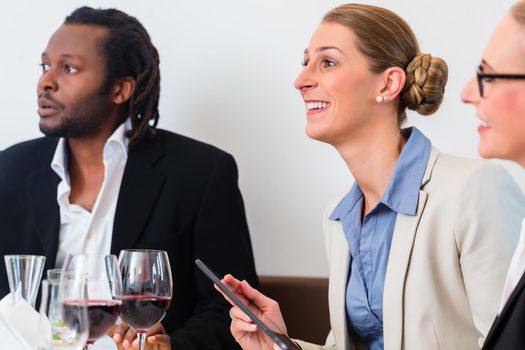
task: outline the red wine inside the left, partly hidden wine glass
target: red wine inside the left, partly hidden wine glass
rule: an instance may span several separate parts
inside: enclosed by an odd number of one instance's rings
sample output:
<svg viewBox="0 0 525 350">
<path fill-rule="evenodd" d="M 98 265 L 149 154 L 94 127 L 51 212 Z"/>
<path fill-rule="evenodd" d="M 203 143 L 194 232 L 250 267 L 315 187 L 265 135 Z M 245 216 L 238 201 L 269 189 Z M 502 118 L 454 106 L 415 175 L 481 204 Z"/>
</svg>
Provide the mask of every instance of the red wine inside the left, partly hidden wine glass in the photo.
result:
<svg viewBox="0 0 525 350">
<path fill-rule="evenodd" d="M 64 319 L 67 315 L 73 315 L 73 308 L 78 307 L 80 303 L 86 303 L 88 307 L 89 318 L 89 337 L 88 344 L 92 344 L 106 334 L 106 332 L 115 324 L 119 315 L 122 303 L 120 300 L 72 300 L 64 302 Z"/>
</svg>

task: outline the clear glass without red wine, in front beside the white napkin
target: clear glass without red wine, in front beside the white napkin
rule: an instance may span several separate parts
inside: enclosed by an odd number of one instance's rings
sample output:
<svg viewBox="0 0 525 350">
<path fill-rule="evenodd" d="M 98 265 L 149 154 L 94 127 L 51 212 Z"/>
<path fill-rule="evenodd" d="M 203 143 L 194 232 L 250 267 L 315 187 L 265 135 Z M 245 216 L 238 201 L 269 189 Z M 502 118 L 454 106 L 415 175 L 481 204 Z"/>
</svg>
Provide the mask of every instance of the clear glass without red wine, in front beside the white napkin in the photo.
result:
<svg viewBox="0 0 525 350">
<path fill-rule="evenodd" d="M 55 275 L 58 277 L 58 275 Z M 82 276 L 61 274 L 42 281 L 40 330 L 48 333 L 45 349 L 79 350 L 89 333 L 86 281 Z"/>
</svg>

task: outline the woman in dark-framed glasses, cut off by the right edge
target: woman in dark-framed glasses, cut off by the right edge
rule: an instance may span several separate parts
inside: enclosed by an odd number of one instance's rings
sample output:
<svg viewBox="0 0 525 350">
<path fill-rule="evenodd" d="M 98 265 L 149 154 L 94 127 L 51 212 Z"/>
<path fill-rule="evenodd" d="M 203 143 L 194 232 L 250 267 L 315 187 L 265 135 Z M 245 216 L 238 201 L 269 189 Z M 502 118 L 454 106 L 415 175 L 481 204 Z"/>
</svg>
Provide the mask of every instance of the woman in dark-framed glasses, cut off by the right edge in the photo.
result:
<svg viewBox="0 0 525 350">
<path fill-rule="evenodd" d="M 512 7 L 483 53 L 462 100 L 480 119 L 479 153 L 525 167 L 525 2 Z M 483 349 L 525 349 L 525 221 L 504 283 L 498 317 Z"/>
</svg>

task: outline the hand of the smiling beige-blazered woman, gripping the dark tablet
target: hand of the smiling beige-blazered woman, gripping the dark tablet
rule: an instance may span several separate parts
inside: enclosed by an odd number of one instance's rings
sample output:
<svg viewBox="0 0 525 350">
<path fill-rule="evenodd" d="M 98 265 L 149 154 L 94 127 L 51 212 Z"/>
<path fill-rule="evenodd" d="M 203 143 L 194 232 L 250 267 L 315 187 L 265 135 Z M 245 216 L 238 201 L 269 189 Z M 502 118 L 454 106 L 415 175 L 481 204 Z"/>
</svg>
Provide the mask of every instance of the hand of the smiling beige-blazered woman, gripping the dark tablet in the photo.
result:
<svg viewBox="0 0 525 350">
<path fill-rule="evenodd" d="M 248 282 L 239 281 L 232 275 L 224 276 L 222 282 L 229 286 L 230 290 L 250 308 L 250 311 L 260 318 L 272 331 L 288 335 L 279 304 L 275 300 L 252 288 Z M 215 286 L 215 289 L 220 292 L 217 286 Z M 233 305 L 226 295 L 223 294 L 223 296 Z M 239 307 L 234 305 L 231 308 L 230 317 L 232 318 L 230 331 L 243 349 L 280 349 Z"/>
</svg>

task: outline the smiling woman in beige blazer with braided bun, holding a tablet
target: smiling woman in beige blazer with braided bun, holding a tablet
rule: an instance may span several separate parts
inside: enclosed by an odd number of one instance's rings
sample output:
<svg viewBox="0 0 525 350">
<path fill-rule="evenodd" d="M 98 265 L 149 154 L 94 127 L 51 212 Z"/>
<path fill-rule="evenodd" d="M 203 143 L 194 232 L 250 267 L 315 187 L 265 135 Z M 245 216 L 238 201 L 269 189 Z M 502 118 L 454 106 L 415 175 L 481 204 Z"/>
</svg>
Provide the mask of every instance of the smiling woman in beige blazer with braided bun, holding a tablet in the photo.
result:
<svg viewBox="0 0 525 350">
<path fill-rule="evenodd" d="M 306 133 L 337 149 L 355 183 L 323 222 L 332 331 L 324 346 L 298 341 L 303 349 L 479 349 L 524 199 L 501 167 L 440 153 L 399 127 L 406 108 L 437 110 L 446 80 L 445 62 L 421 53 L 386 9 L 343 5 L 313 33 L 295 82 Z M 224 281 L 286 334 L 276 302 Z M 230 315 L 244 349 L 273 348 L 238 307 Z"/>
</svg>

